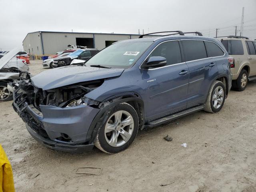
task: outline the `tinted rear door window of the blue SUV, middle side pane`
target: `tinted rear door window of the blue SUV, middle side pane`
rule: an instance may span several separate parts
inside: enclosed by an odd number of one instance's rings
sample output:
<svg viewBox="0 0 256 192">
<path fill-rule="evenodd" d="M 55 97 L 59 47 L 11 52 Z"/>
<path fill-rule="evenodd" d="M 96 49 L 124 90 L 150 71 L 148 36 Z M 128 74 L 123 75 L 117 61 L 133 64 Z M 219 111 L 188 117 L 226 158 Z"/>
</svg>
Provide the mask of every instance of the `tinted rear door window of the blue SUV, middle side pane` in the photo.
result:
<svg viewBox="0 0 256 192">
<path fill-rule="evenodd" d="M 204 42 L 201 40 L 182 40 L 186 61 L 207 58 Z"/>
</svg>

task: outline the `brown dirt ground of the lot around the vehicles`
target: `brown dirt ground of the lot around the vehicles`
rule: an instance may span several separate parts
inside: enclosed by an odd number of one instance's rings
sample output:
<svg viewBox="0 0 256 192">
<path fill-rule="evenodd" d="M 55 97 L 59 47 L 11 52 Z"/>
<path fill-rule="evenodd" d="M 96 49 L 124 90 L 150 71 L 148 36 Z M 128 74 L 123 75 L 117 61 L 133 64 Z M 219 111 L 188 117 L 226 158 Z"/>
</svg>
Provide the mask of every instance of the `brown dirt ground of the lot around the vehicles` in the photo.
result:
<svg viewBox="0 0 256 192">
<path fill-rule="evenodd" d="M 30 64 L 32 74 L 43 70 L 48 69 L 42 62 Z M 11 104 L 0 103 L 0 143 L 18 192 L 256 191 L 256 82 L 244 92 L 231 91 L 219 113 L 196 112 L 141 131 L 127 150 L 112 155 L 96 148 L 69 154 L 39 145 Z M 166 134 L 171 142 L 163 139 Z M 102 172 L 77 177 L 80 167 Z"/>
</svg>

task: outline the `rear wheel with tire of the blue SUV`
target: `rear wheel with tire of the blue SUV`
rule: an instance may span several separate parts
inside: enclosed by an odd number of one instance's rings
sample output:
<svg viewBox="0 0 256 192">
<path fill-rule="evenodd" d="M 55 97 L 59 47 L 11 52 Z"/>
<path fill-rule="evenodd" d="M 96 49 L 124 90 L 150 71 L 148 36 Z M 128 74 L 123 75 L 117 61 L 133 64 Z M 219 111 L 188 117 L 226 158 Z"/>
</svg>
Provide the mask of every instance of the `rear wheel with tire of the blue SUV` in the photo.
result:
<svg viewBox="0 0 256 192">
<path fill-rule="evenodd" d="M 204 110 L 210 113 L 219 112 L 226 98 L 226 87 L 221 81 L 214 81 L 207 96 Z"/>
</svg>

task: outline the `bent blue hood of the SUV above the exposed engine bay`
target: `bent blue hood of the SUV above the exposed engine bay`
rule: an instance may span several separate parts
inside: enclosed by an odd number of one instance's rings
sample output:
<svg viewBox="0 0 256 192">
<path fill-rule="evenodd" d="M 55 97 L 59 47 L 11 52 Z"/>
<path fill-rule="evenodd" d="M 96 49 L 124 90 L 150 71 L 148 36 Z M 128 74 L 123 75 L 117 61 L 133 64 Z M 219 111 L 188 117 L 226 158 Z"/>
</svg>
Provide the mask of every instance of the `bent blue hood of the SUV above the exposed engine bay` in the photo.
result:
<svg viewBox="0 0 256 192">
<path fill-rule="evenodd" d="M 117 77 L 124 69 L 108 69 L 87 66 L 66 66 L 41 72 L 31 82 L 43 90 L 54 89 L 79 82 Z"/>
</svg>

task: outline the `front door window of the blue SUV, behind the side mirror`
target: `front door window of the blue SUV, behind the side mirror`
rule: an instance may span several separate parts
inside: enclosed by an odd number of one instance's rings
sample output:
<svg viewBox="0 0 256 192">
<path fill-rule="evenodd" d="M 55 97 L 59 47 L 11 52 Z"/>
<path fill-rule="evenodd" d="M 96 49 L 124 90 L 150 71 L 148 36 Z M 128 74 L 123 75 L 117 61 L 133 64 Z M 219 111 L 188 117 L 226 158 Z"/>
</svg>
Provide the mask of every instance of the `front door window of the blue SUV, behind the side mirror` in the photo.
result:
<svg viewBox="0 0 256 192">
<path fill-rule="evenodd" d="M 181 63 L 180 45 L 178 41 L 168 41 L 158 45 L 150 54 L 152 56 L 161 56 L 166 58 L 166 65 Z"/>
</svg>

